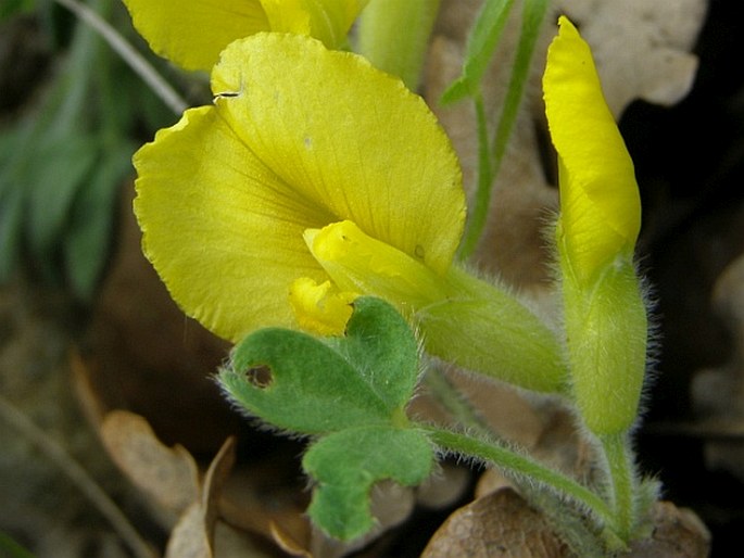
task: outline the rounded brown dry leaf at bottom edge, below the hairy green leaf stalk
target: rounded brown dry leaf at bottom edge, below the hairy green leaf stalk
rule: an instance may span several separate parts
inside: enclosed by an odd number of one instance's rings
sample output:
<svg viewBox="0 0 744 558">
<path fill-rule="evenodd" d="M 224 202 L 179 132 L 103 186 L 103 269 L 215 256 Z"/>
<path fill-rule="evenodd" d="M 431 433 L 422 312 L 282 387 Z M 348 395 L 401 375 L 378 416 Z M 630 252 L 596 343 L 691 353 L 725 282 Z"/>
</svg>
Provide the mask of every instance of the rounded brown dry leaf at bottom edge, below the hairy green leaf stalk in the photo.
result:
<svg viewBox="0 0 744 558">
<path fill-rule="evenodd" d="M 421 558 L 564 558 L 568 548 L 545 519 L 512 489 L 458 509 L 434 533 Z"/>
</svg>

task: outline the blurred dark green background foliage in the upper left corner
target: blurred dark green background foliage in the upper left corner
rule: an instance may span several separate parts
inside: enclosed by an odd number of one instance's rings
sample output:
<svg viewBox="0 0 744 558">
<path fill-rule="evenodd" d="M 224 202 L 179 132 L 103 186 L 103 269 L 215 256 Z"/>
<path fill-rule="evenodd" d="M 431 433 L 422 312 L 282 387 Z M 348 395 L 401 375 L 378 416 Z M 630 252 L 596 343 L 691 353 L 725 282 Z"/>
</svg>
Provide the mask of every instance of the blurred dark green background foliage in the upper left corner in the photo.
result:
<svg viewBox="0 0 744 558">
<path fill-rule="evenodd" d="M 112 251 L 117 194 L 134 175 L 131 155 L 176 116 L 65 10 L 49 1 L 2 5 L 0 25 L 36 18 L 51 61 L 41 93 L 0 121 L 0 283 L 23 270 L 90 302 Z M 119 2 L 90 8 L 136 37 Z"/>
</svg>

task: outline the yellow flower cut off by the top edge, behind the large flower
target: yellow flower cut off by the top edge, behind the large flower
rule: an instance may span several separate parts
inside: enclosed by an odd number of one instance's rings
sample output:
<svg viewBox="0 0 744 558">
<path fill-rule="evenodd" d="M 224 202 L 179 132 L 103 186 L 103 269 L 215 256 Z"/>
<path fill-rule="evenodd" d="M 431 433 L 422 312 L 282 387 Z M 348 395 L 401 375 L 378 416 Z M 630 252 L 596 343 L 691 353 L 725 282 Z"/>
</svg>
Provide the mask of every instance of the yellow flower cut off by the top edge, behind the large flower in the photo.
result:
<svg viewBox="0 0 744 558">
<path fill-rule="evenodd" d="M 345 41 L 368 0 L 124 0 L 154 52 L 186 69 L 210 71 L 236 39 L 260 31 L 310 35 L 329 48 Z"/>
</svg>

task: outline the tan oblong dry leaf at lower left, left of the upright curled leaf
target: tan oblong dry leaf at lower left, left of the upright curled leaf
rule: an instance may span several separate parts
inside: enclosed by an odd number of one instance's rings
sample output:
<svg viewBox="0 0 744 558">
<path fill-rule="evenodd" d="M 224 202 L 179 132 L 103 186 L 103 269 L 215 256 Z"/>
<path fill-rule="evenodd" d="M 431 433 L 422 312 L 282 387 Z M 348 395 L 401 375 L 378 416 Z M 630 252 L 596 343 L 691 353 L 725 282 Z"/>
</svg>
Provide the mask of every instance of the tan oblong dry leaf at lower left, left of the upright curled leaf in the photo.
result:
<svg viewBox="0 0 744 558">
<path fill-rule="evenodd" d="M 173 524 L 199 498 L 199 469 L 182 446 L 167 447 L 142 417 L 126 410 L 109 413 L 101 439 L 118 468 Z"/>
</svg>

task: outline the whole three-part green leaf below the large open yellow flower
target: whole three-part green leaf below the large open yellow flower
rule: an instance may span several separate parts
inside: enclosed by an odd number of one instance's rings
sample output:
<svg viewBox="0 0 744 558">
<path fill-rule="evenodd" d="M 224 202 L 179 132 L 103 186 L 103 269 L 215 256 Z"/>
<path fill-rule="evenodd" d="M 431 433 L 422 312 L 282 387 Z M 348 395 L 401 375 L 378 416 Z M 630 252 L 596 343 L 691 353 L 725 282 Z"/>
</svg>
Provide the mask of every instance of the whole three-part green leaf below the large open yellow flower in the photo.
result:
<svg viewBox="0 0 744 558">
<path fill-rule="evenodd" d="M 375 483 L 415 485 L 431 472 L 432 445 L 405 415 L 417 378 L 413 332 L 390 304 L 369 296 L 354 302 L 344 337 L 260 330 L 237 345 L 219 372 L 223 388 L 251 415 L 319 434 L 303 459 L 316 482 L 308 512 L 342 540 L 375 524 Z"/>
</svg>

